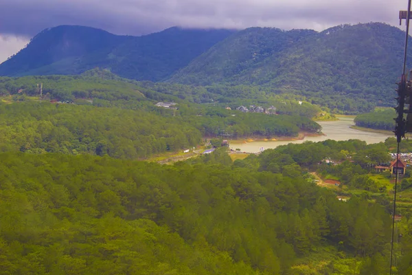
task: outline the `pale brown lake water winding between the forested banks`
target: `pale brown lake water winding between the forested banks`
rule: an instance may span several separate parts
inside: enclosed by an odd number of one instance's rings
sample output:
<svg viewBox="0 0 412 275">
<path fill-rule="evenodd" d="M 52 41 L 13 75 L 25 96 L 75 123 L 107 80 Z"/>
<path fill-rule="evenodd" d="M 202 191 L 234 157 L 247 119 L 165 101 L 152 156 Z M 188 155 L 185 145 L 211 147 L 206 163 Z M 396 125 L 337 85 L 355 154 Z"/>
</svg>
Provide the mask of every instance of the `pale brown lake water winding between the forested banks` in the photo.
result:
<svg viewBox="0 0 412 275">
<path fill-rule="evenodd" d="M 271 149 L 280 145 L 289 143 L 303 143 L 306 141 L 321 142 L 323 140 L 364 140 L 369 143 L 383 142 L 387 137 L 394 137 L 385 133 L 374 133 L 368 131 L 361 131 L 350 128 L 354 126 L 354 117 L 339 117 L 337 121 L 318 122 L 322 126 L 322 133 L 325 135 L 305 137 L 304 140 L 293 141 L 256 141 L 244 143 L 231 143 L 230 148 L 235 150 L 240 148 L 240 151 L 247 153 L 256 153 L 260 148 Z"/>
</svg>

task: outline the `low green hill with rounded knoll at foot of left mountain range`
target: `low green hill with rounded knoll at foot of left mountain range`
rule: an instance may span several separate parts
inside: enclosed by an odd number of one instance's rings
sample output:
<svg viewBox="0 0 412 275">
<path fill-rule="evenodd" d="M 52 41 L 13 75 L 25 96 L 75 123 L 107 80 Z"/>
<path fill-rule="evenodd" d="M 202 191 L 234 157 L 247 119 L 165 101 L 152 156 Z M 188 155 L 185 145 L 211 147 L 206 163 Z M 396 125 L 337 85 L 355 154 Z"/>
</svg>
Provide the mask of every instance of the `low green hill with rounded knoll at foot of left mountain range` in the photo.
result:
<svg viewBox="0 0 412 275">
<path fill-rule="evenodd" d="M 0 91 L 3 96 L 40 96 L 38 85 L 43 83 L 45 99 L 73 102 L 76 99 L 95 100 L 93 104 L 130 104 L 131 101 L 141 107 L 141 101 L 175 100 L 137 86 L 135 83 L 122 81 L 115 75 L 93 70 L 82 76 L 25 76 L 22 78 L 0 77 Z M 111 79 L 113 78 L 113 79 Z M 46 96 L 48 95 L 48 96 Z M 108 107 L 106 106 L 106 107 Z"/>
</svg>

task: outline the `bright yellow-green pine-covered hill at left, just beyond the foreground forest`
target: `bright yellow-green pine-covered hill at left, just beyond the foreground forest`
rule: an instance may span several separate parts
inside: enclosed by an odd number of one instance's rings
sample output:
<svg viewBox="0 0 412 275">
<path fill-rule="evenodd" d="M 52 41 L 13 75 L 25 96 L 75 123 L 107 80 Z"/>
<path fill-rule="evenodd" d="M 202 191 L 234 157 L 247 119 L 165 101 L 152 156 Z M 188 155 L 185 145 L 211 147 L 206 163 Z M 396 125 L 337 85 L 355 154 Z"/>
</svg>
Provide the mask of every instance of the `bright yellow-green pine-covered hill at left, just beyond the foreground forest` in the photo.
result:
<svg viewBox="0 0 412 275">
<path fill-rule="evenodd" d="M 137 159 L 196 146 L 201 133 L 145 111 L 27 102 L 0 105 L 0 150 Z"/>
</svg>

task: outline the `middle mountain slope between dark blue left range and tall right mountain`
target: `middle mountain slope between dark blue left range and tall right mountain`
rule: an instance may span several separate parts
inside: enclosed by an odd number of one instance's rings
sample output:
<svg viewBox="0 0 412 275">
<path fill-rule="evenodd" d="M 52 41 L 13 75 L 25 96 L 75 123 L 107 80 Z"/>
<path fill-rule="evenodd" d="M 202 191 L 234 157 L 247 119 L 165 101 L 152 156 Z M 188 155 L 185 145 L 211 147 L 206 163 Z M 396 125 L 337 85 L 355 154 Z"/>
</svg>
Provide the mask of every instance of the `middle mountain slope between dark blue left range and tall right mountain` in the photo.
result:
<svg viewBox="0 0 412 275">
<path fill-rule="evenodd" d="M 314 30 L 284 32 L 276 28 L 248 28 L 195 58 L 176 73 L 171 81 L 196 85 L 236 82 L 236 76 L 258 67 L 268 58 L 276 58 L 295 43 L 316 34 Z"/>
</svg>

